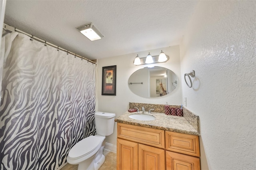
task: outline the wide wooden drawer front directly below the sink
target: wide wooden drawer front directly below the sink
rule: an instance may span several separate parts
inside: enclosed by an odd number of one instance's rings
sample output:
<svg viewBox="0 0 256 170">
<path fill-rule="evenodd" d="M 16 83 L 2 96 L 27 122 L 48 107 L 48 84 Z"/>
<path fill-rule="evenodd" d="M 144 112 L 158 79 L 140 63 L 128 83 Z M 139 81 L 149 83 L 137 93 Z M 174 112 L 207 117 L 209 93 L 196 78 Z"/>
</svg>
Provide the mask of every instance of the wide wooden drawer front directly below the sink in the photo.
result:
<svg viewBox="0 0 256 170">
<path fill-rule="evenodd" d="M 164 148 L 164 130 L 117 123 L 117 137 Z"/>
</svg>

